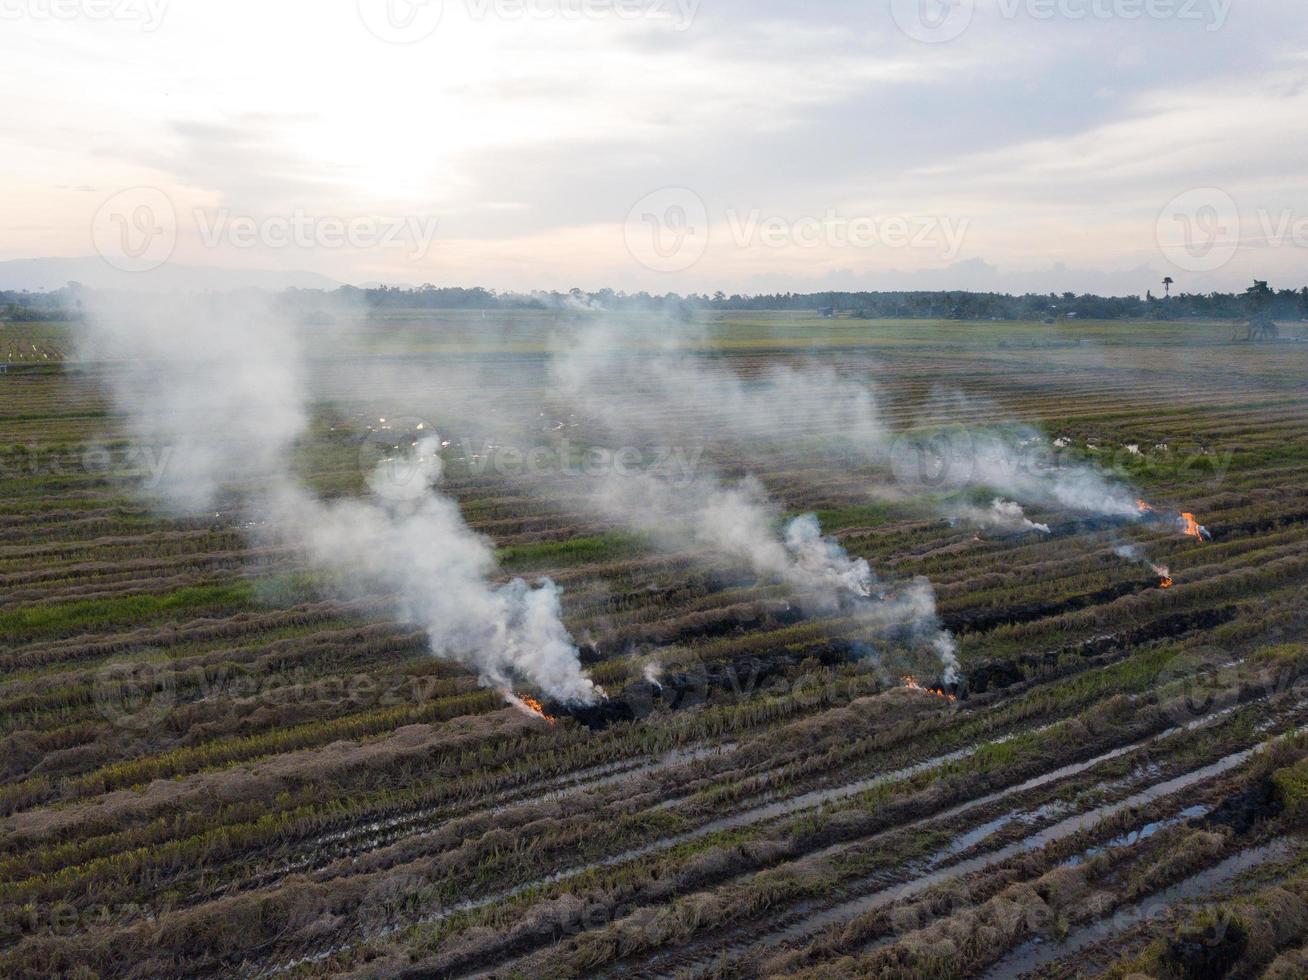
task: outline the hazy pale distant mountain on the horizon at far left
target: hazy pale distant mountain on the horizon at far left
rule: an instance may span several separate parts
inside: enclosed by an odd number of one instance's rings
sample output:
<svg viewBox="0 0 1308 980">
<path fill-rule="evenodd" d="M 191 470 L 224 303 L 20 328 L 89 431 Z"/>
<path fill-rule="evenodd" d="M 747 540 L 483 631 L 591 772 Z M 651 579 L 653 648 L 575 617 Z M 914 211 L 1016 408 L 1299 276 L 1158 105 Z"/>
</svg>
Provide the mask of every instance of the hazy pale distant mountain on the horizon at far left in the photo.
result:
<svg viewBox="0 0 1308 980">
<path fill-rule="evenodd" d="M 81 283 L 90 289 L 124 289 L 132 292 L 203 292 L 216 289 L 335 289 L 334 279 L 317 272 L 281 272 L 256 268 L 218 268 L 216 266 L 178 266 L 167 263 L 149 272 L 122 272 L 99 258 L 13 259 L 0 262 L 0 290 L 46 292 L 68 283 Z"/>
</svg>

